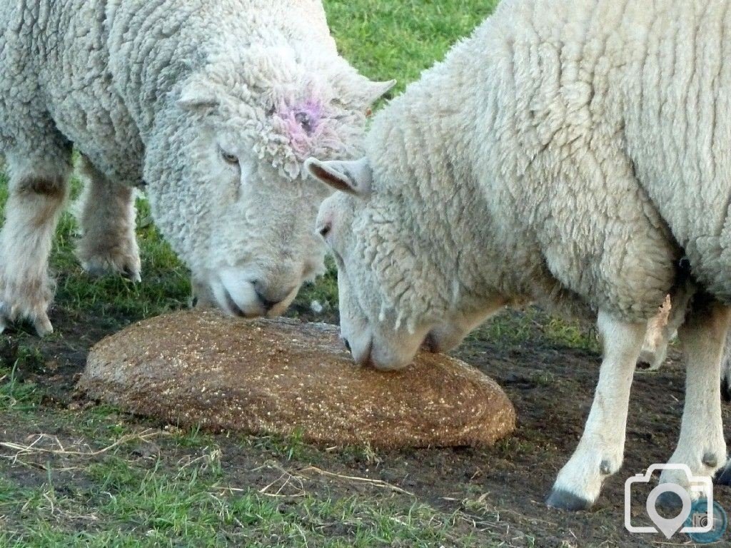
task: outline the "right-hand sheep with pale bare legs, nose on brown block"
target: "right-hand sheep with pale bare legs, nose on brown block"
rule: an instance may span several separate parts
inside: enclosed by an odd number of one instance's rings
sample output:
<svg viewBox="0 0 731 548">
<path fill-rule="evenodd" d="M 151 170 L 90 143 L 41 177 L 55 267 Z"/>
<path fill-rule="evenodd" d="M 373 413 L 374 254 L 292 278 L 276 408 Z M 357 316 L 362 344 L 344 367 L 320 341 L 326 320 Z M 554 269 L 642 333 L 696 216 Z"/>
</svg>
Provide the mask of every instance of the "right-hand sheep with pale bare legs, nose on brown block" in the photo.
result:
<svg viewBox="0 0 731 548">
<path fill-rule="evenodd" d="M 678 329 L 689 365 L 669 462 L 711 476 L 725 461 L 730 7 L 504 0 L 376 115 L 364 158 L 306 161 L 338 190 L 317 231 L 355 361 L 402 368 L 516 300 L 596 318 L 594 403 L 549 506 L 591 507 L 621 467 L 647 323 L 680 298 L 683 264 L 699 289 Z M 661 482 L 691 479 L 675 467 Z"/>
</svg>

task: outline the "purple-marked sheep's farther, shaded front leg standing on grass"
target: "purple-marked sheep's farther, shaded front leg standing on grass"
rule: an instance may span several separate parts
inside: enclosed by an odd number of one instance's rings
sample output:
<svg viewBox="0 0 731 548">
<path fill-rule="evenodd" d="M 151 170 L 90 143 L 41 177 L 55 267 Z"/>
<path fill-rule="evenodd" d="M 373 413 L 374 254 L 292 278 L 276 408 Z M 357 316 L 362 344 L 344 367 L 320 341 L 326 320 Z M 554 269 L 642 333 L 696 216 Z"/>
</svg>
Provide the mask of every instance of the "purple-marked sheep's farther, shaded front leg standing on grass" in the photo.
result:
<svg viewBox="0 0 731 548">
<path fill-rule="evenodd" d="M 83 236 L 76 254 L 93 275 L 120 273 L 140 281 L 140 251 L 135 237 L 135 190 L 110 180 L 81 157 L 86 175 L 80 224 Z"/>
</svg>

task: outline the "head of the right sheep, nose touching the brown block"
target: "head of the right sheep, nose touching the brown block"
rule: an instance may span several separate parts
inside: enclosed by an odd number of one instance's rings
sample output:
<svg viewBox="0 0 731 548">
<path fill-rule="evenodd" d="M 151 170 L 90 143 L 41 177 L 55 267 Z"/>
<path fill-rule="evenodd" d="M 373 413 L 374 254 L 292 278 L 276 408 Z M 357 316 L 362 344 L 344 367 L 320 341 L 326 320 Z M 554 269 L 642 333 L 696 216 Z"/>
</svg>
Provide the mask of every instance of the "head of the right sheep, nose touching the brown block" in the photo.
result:
<svg viewBox="0 0 731 548">
<path fill-rule="evenodd" d="M 322 202 L 316 231 L 338 265 L 341 335 L 356 362 L 404 368 L 420 348 L 457 346 L 505 304 L 499 294 L 477 306 L 460 300 L 455 270 L 436 264 L 444 243 L 427 225 L 439 220 L 417 220 L 428 204 L 394 194 L 367 159 L 305 167 L 338 191 Z"/>
</svg>

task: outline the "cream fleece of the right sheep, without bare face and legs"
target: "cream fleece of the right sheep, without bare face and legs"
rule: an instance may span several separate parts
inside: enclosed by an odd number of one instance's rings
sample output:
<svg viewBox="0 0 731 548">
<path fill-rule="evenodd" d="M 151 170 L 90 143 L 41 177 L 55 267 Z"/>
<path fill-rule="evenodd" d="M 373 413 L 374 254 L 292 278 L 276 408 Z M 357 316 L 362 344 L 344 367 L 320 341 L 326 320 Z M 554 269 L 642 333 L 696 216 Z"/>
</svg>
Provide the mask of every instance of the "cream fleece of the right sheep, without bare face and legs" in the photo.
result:
<svg viewBox="0 0 731 548">
<path fill-rule="evenodd" d="M 376 115 L 368 202 L 337 198 L 361 308 L 413 330 L 497 292 L 645 321 L 683 251 L 730 300 L 729 7 L 501 2 Z"/>
</svg>

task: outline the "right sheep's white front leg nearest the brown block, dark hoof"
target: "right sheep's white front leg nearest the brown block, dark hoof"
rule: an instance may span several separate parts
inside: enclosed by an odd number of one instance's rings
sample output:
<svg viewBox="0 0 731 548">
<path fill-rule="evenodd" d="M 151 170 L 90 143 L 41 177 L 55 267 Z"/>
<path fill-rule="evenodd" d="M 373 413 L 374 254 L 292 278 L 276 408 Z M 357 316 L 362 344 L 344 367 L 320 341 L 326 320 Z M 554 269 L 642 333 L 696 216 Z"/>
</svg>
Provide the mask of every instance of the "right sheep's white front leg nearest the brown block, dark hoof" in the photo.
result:
<svg viewBox="0 0 731 548">
<path fill-rule="evenodd" d="M 646 324 L 619 321 L 602 311 L 597 324 L 604 346 L 599 383 L 579 445 L 548 497 L 548 506 L 556 508 L 591 508 L 602 482 L 619 470 L 624 456 L 629 389 Z"/>
</svg>

